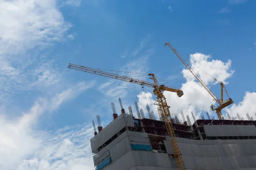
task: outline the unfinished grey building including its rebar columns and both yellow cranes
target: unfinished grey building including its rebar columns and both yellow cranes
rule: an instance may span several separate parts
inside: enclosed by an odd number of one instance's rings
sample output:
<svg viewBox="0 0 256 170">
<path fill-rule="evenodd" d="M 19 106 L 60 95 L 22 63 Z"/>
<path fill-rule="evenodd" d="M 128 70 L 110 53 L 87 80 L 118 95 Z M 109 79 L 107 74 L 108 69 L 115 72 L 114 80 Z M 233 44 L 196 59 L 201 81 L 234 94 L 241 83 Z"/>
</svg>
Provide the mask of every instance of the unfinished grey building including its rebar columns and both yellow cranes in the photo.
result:
<svg viewBox="0 0 256 170">
<path fill-rule="evenodd" d="M 189 119 L 188 122 L 185 121 L 182 114 L 183 123 L 180 122 L 177 114 L 170 113 L 170 107 L 163 92 L 169 91 L 181 97 L 183 91 L 169 85 L 155 74 L 129 72 L 136 74 L 136 77 L 148 76 L 152 82 L 147 82 L 144 79 L 134 79 L 131 75 L 124 76 L 99 68 L 70 63 L 68 68 L 141 85 L 143 91 L 144 86 L 153 88 L 152 92 L 157 96 L 154 105 L 158 106 L 160 120 L 155 119 L 148 105 L 149 119 L 146 119 L 143 111 L 138 108 L 136 108 L 138 119 L 133 116 L 131 107 L 128 109 L 130 114 L 126 114 L 121 102 L 122 114 L 118 116 L 116 112 L 113 112 L 114 120 L 105 128 L 102 128 L 99 116 L 97 116 L 99 133 L 96 132 L 93 122 L 95 136 L 91 139 L 96 169 L 256 170 L 256 123 L 251 120 L 250 116 L 248 121 L 224 120 L 221 110 L 233 104 L 233 99 L 229 97 L 224 83 L 220 82 L 221 98 L 219 99 L 175 48 L 169 42 L 165 45 L 172 49 L 212 96 L 217 105 L 212 104 L 210 108 L 216 112 L 219 120 L 210 120 L 207 115 L 207 120 L 203 116 L 201 120 L 194 119 L 192 125 Z M 224 91 L 227 99 L 224 99 Z M 114 108 L 113 105 L 112 108 Z"/>
</svg>

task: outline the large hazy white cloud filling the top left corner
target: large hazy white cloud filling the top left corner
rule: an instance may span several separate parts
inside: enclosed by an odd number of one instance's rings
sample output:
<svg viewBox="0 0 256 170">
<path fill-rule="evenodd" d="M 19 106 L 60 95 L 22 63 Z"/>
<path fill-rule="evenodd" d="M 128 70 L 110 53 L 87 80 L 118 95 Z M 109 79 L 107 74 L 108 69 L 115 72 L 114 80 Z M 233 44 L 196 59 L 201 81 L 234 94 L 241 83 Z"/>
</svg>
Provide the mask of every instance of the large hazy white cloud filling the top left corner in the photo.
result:
<svg viewBox="0 0 256 170">
<path fill-rule="evenodd" d="M 0 0 L 0 54 L 50 45 L 61 40 L 70 26 L 54 0 Z"/>
</svg>

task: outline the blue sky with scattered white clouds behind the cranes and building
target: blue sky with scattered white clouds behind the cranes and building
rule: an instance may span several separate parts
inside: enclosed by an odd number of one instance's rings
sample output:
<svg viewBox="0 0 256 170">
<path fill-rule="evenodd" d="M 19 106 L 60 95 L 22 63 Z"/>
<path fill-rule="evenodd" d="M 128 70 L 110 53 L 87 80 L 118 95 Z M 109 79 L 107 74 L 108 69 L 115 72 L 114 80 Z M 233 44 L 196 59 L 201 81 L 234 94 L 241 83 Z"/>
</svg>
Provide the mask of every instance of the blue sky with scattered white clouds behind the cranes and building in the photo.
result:
<svg viewBox="0 0 256 170">
<path fill-rule="evenodd" d="M 211 96 L 166 42 L 227 83 L 235 103 L 224 115 L 247 119 L 248 112 L 256 119 L 255 6 L 253 0 L 0 0 L 0 147 L 10 153 L 0 169 L 93 169 L 88 140 L 96 114 L 107 125 L 111 101 L 120 112 L 119 96 L 127 111 L 128 105 L 135 111 L 136 100 L 146 113 L 139 85 L 71 70 L 69 63 L 154 73 L 184 91 L 182 98 L 165 92 L 171 112 L 215 116 Z M 220 97 L 220 86 L 192 68 Z M 157 116 L 151 90 L 145 87 Z"/>
</svg>

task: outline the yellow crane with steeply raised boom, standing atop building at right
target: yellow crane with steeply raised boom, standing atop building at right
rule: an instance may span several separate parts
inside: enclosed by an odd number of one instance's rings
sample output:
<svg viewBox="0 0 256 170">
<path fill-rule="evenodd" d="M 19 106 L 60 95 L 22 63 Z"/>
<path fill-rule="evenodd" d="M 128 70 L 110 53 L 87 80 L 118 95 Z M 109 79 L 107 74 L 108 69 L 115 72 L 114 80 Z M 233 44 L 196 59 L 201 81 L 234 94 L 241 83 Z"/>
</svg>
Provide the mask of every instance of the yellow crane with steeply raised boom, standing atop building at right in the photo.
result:
<svg viewBox="0 0 256 170">
<path fill-rule="evenodd" d="M 213 100 L 215 100 L 218 103 L 217 107 L 215 105 L 211 105 L 210 108 L 211 108 L 212 111 L 216 111 L 218 119 L 220 119 L 220 120 L 224 119 L 224 117 L 221 113 L 221 109 L 227 107 L 228 105 L 231 105 L 233 103 L 233 100 L 227 94 L 227 90 L 226 90 L 223 82 L 220 83 L 220 85 L 221 85 L 221 99 L 218 99 L 218 97 L 215 96 L 215 94 L 203 82 L 203 80 L 195 73 L 195 71 L 189 66 L 189 64 L 181 57 L 181 55 L 175 50 L 175 48 L 169 42 L 166 42 L 165 46 L 166 45 L 168 45 L 172 49 L 172 51 L 176 54 L 176 56 L 180 59 L 180 61 L 183 62 L 183 64 L 186 66 L 186 68 L 195 76 L 195 78 L 198 80 L 198 82 L 200 82 L 201 85 L 203 85 L 203 87 L 213 97 Z M 217 81 L 217 79 L 215 79 L 215 81 Z M 224 101 L 223 101 L 223 88 L 225 89 L 227 97 L 228 97 L 228 99 L 224 100 Z"/>
</svg>

